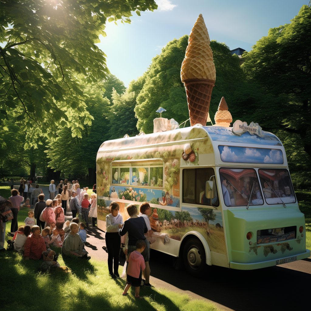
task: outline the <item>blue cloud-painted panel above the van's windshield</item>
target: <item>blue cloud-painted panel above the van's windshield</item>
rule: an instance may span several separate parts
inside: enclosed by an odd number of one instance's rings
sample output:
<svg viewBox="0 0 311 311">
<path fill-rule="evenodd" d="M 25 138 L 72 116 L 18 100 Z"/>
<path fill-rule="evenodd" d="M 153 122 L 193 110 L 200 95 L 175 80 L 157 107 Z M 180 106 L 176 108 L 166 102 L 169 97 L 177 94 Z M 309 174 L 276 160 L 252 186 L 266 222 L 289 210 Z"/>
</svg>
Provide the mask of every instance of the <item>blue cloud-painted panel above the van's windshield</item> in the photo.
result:
<svg viewBox="0 0 311 311">
<path fill-rule="evenodd" d="M 218 146 L 223 162 L 283 164 L 283 153 L 279 149 Z"/>
</svg>

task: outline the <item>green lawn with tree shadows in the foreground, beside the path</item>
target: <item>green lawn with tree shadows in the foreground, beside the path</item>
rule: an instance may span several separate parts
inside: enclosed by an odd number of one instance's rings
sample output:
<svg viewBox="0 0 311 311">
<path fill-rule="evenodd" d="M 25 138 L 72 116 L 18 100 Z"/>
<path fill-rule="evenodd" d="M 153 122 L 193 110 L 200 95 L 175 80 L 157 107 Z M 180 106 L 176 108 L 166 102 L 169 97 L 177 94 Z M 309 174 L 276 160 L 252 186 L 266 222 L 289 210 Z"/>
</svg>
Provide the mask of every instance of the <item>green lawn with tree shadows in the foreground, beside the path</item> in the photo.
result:
<svg viewBox="0 0 311 311">
<path fill-rule="evenodd" d="M 24 224 L 27 213 L 27 208 L 20 210 L 19 225 Z M 10 227 L 11 221 L 7 222 L 7 232 Z M 25 261 L 12 251 L 1 252 L 0 260 L 1 270 L 5 272 L 1 281 L 2 310 L 219 310 L 205 301 L 190 300 L 188 295 L 154 287 L 142 288 L 140 295 L 144 299 L 136 300 L 135 290 L 132 289 L 128 291 L 128 296 L 122 296 L 124 281 L 112 280 L 107 263 L 93 259 L 63 260 L 60 255 L 59 264 L 69 267 L 71 273 L 38 272 L 41 261 Z M 122 269 L 120 266 L 120 274 Z"/>
</svg>

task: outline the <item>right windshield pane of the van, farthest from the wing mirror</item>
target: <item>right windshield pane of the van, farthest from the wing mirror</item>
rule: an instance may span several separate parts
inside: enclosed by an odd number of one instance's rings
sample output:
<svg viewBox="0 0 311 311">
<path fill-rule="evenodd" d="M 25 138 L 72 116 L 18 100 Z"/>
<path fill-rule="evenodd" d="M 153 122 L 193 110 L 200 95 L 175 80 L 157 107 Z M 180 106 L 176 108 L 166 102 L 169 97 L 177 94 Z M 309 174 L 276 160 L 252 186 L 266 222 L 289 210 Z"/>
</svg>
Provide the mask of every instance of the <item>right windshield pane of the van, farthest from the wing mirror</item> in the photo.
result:
<svg viewBox="0 0 311 311">
<path fill-rule="evenodd" d="M 295 192 L 287 169 L 258 169 L 263 195 L 268 204 L 295 203 Z"/>
</svg>

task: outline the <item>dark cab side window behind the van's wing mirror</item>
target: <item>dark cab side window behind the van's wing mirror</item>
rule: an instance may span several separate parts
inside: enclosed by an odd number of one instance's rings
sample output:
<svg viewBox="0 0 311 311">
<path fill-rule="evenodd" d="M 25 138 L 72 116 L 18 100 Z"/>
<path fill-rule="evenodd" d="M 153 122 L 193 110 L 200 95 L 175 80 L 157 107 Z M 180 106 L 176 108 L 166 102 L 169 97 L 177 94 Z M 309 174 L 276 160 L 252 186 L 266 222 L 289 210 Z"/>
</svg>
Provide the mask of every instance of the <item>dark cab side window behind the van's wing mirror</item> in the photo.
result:
<svg viewBox="0 0 311 311">
<path fill-rule="evenodd" d="M 218 206 L 218 193 L 216 181 L 213 177 L 214 187 L 212 194 L 205 195 L 205 185 L 211 176 L 215 175 L 214 169 L 183 169 L 183 203 L 203 204 Z"/>
</svg>

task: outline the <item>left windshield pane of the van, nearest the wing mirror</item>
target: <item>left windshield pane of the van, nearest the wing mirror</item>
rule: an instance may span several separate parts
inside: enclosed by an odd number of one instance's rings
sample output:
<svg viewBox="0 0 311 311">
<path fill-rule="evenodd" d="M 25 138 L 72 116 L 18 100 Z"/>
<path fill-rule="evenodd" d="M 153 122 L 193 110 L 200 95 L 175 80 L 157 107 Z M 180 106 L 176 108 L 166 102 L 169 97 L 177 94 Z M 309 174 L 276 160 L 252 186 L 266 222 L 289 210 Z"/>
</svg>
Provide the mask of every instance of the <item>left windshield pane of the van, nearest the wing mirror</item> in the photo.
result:
<svg viewBox="0 0 311 311">
<path fill-rule="evenodd" d="M 262 205 L 262 193 L 254 169 L 220 168 L 220 181 L 225 205 Z"/>
</svg>

